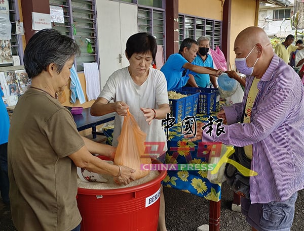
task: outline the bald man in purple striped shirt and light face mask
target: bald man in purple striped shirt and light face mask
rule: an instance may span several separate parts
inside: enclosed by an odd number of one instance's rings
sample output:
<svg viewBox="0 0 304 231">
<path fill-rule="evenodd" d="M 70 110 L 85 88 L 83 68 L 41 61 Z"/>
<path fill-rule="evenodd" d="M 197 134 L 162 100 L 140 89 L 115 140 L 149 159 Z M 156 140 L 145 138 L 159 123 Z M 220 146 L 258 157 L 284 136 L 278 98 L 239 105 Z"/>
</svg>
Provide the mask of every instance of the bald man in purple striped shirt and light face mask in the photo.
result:
<svg viewBox="0 0 304 231">
<path fill-rule="evenodd" d="M 236 66 L 246 74 L 243 103 L 218 113 L 227 125 L 199 129 L 202 143 L 244 147 L 251 160 L 250 200 L 241 198 L 252 230 L 290 230 L 297 191 L 304 186 L 304 88 L 296 72 L 274 54 L 267 34 L 248 27 L 235 40 Z M 242 118 L 244 112 L 244 117 Z M 244 120 L 243 123 L 238 123 Z"/>
</svg>

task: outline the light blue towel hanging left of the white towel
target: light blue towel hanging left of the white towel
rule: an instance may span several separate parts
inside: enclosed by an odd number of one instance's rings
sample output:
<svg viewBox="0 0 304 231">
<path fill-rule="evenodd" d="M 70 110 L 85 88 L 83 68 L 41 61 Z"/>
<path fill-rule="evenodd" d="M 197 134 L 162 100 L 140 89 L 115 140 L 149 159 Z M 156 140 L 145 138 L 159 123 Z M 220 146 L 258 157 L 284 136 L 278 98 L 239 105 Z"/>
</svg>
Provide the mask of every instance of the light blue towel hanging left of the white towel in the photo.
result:
<svg viewBox="0 0 304 231">
<path fill-rule="evenodd" d="M 71 90 L 71 99 L 70 102 L 74 104 L 76 99 L 79 99 L 81 104 L 86 102 L 85 94 L 83 89 L 81 88 L 81 83 L 79 81 L 79 77 L 74 65 L 71 68 L 71 81 L 70 81 L 70 90 Z"/>
</svg>

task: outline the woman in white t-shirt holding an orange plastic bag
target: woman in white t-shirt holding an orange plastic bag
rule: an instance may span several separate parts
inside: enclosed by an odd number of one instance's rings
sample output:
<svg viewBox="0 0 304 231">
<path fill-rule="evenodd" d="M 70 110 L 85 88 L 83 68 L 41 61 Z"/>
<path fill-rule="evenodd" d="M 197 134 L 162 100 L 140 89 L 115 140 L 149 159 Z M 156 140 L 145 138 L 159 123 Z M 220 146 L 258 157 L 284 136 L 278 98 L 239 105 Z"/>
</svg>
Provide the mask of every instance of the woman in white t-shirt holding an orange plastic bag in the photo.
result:
<svg viewBox="0 0 304 231">
<path fill-rule="evenodd" d="M 167 151 L 166 134 L 161 120 L 170 113 L 167 82 L 164 74 L 151 68 L 157 52 L 156 39 L 147 33 L 133 34 L 127 40 L 126 57 L 130 65 L 114 72 L 107 80 L 98 99 L 91 107 L 91 114 L 101 116 L 116 112 L 113 146 L 118 145 L 127 109 L 144 131 L 146 142 L 161 142 L 164 149 L 160 159 L 165 159 Z M 113 100 L 113 103 L 109 103 Z M 161 193 L 161 207 L 158 230 L 166 231 L 165 201 Z"/>
</svg>

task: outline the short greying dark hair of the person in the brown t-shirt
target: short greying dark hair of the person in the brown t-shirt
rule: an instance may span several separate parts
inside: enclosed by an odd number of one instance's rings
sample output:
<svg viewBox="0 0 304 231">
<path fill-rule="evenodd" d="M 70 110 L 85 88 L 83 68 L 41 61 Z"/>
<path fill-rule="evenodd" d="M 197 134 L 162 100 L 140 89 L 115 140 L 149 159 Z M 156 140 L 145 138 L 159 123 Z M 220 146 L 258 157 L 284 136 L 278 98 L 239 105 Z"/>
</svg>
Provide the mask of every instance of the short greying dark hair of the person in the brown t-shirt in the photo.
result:
<svg viewBox="0 0 304 231">
<path fill-rule="evenodd" d="M 80 49 L 72 38 L 54 29 L 43 29 L 35 33 L 25 47 L 25 71 L 33 78 L 54 63 L 59 74 L 66 61 L 75 55 L 80 55 Z"/>
</svg>

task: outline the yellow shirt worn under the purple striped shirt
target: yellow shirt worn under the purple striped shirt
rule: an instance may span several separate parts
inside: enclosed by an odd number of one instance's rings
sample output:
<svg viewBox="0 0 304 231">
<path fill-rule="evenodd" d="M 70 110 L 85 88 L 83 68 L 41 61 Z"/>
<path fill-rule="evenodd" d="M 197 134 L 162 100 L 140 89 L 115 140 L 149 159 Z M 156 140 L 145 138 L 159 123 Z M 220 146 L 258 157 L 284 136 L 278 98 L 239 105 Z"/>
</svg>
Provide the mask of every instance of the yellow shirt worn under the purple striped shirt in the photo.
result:
<svg viewBox="0 0 304 231">
<path fill-rule="evenodd" d="M 250 123 L 250 117 L 251 117 L 251 109 L 253 106 L 253 103 L 255 101 L 256 95 L 258 93 L 257 89 L 257 83 L 260 79 L 254 78 L 252 85 L 250 87 L 247 102 L 245 106 L 245 114 L 244 114 L 244 123 Z M 247 145 L 244 147 L 244 152 L 248 159 L 252 159 L 252 145 Z"/>
</svg>

